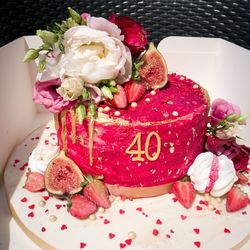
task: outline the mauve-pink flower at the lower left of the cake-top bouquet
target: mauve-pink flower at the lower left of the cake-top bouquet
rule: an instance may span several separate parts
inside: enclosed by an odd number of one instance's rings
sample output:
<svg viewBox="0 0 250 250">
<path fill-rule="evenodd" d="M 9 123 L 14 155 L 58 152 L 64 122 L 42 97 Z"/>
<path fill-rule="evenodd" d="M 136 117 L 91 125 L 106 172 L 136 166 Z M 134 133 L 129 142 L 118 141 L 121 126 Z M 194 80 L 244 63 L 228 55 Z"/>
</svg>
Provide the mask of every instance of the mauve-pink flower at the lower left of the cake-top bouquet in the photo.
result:
<svg viewBox="0 0 250 250">
<path fill-rule="evenodd" d="M 33 101 L 42 104 L 52 113 L 58 113 L 63 109 L 70 108 L 76 102 L 64 101 L 56 92 L 58 86 L 61 85 L 59 78 L 48 81 L 37 81 L 33 88 Z"/>
</svg>

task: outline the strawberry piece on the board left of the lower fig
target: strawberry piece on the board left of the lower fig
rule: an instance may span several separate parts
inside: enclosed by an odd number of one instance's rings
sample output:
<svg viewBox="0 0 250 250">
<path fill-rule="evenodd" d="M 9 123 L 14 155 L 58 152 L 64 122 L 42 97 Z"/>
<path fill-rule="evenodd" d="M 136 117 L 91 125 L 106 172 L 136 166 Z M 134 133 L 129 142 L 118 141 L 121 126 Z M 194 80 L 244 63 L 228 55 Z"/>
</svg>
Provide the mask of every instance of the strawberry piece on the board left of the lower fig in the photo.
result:
<svg viewBox="0 0 250 250">
<path fill-rule="evenodd" d="M 28 172 L 24 188 L 30 192 L 38 192 L 44 190 L 44 175 L 38 172 Z"/>
</svg>

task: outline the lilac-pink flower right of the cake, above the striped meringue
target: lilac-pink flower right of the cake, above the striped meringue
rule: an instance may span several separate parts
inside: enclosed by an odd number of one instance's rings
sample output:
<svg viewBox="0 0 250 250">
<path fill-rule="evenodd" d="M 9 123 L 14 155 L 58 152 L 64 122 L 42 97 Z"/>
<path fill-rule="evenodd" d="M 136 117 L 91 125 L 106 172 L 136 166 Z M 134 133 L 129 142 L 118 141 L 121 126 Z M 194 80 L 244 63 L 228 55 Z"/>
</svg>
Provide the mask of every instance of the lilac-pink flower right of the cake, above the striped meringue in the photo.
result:
<svg viewBox="0 0 250 250">
<path fill-rule="evenodd" d="M 240 108 L 224 99 L 215 99 L 211 107 L 211 125 L 216 125 L 230 114 L 240 115 Z"/>
</svg>

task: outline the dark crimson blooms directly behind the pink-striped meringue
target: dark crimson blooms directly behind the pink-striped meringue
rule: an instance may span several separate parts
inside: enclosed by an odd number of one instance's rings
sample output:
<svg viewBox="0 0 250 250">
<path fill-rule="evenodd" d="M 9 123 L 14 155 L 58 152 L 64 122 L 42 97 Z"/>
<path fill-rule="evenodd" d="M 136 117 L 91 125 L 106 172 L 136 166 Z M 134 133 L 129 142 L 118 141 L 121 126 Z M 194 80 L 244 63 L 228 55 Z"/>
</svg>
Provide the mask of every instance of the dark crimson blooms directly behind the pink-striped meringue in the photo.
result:
<svg viewBox="0 0 250 250">
<path fill-rule="evenodd" d="M 231 159 L 237 171 L 244 171 L 247 169 L 250 148 L 245 145 L 237 144 L 235 138 L 224 140 L 209 135 L 207 137 L 206 146 L 208 151 L 218 156 L 224 154 Z"/>
</svg>

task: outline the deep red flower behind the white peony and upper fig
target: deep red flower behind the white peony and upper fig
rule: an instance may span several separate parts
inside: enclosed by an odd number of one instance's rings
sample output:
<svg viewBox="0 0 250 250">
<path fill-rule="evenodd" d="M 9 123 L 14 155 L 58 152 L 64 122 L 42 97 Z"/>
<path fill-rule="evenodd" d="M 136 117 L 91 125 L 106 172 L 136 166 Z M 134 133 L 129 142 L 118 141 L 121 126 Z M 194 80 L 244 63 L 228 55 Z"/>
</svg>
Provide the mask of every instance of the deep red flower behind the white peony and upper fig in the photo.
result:
<svg viewBox="0 0 250 250">
<path fill-rule="evenodd" d="M 143 27 L 128 16 L 117 17 L 115 13 L 109 18 L 115 23 L 124 35 L 124 44 L 130 49 L 132 55 L 137 55 L 145 50 L 147 35 Z"/>
</svg>

